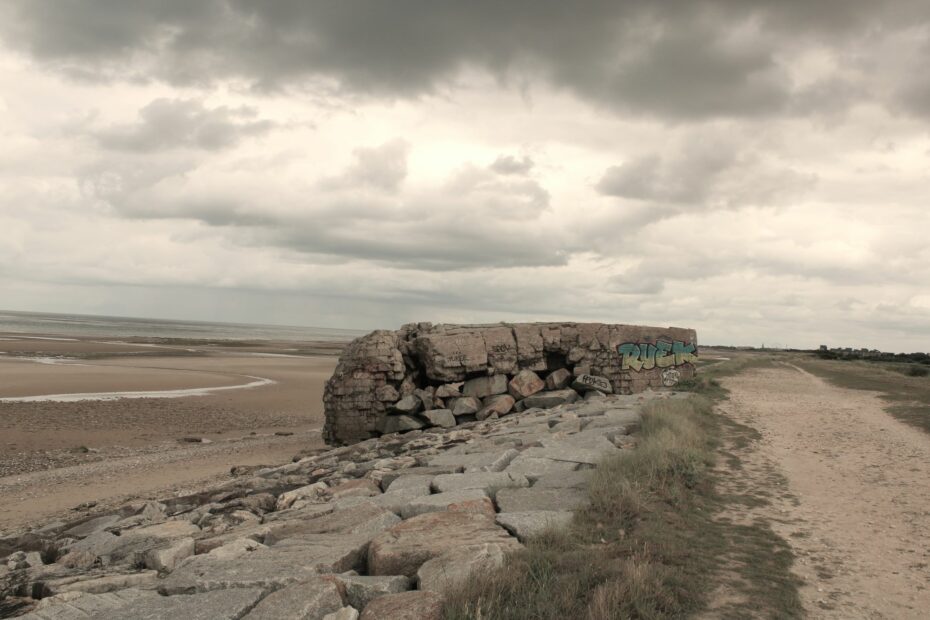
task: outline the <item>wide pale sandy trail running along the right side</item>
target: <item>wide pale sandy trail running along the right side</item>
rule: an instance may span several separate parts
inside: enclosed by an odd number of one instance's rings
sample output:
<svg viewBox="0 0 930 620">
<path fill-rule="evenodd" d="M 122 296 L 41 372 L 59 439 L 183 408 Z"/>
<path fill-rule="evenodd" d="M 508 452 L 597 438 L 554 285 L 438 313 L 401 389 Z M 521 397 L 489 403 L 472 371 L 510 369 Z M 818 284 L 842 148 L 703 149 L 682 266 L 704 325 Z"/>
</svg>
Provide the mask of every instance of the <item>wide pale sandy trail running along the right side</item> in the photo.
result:
<svg viewBox="0 0 930 620">
<path fill-rule="evenodd" d="M 770 520 L 789 541 L 809 617 L 928 617 L 930 435 L 894 419 L 877 394 L 795 366 L 723 383 L 723 413 L 762 435 L 746 471 L 760 488 L 785 476 L 794 496 L 743 516 Z"/>
</svg>

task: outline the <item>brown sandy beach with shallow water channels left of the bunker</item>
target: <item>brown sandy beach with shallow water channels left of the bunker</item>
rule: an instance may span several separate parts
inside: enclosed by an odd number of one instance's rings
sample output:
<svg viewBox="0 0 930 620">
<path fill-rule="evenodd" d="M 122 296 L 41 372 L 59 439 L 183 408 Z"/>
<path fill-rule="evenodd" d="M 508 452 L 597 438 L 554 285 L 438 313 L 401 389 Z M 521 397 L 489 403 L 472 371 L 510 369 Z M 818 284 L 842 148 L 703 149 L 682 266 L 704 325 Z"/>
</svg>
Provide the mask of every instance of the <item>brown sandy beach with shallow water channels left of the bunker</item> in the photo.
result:
<svg viewBox="0 0 930 620">
<path fill-rule="evenodd" d="M 0 532 L 320 447 L 340 349 L 0 333 Z"/>
</svg>

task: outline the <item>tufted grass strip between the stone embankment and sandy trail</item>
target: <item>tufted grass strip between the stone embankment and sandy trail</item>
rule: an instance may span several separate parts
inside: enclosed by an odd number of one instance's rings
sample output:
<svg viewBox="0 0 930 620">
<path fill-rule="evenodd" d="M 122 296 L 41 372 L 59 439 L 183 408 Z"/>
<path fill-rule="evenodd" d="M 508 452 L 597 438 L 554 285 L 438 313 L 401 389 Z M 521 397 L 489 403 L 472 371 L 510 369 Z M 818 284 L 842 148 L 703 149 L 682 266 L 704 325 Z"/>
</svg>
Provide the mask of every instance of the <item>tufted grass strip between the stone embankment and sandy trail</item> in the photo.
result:
<svg viewBox="0 0 930 620">
<path fill-rule="evenodd" d="M 706 605 L 714 576 L 734 558 L 754 611 L 798 615 L 788 545 L 765 524 L 714 519 L 726 502 L 713 468 L 723 429 L 703 396 L 647 405 L 637 448 L 598 465 L 590 504 L 572 524 L 527 541 L 501 569 L 472 578 L 447 598 L 445 617 L 684 617 Z"/>
</svg>

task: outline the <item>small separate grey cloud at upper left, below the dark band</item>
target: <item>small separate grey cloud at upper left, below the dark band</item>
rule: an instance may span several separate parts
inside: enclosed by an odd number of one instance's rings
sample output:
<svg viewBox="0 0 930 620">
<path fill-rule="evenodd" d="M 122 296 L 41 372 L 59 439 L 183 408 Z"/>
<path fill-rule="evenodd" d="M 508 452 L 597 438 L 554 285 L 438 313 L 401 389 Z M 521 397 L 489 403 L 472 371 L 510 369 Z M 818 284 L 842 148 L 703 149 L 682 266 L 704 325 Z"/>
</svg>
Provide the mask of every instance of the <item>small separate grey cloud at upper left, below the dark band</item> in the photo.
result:
<svg viewBox="0 0 930 620">
<path fill-rule="evenodd" d="M 107 149 L 152 152 L 171 148 L 216 151 L 235 146 L 242 138 L 265 133 L 273 123 L 256 120 L 251 108 L 207 108 L 181 99 L 156 99 L 139 111 L 139 120 L 94 133 Z"/>
</svg>

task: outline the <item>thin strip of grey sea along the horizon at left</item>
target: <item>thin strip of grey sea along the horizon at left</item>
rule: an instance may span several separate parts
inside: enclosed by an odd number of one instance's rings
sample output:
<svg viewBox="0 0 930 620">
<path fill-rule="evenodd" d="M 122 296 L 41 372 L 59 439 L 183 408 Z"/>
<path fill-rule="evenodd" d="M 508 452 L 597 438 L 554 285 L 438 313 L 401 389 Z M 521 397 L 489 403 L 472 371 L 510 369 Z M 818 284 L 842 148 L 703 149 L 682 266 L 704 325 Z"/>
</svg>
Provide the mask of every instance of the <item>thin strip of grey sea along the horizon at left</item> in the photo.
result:
<svg viewBox="0 0 930 620">
<path fill-rule="evenodd" d="M 209 323 L 205 321 L 173 321 L 11 310 L 0 310 L 0 332 L 42 334 L 62 338 L 129 338 L 136 336 L 143 338 L 288 342 L 343 342 L 366 333 L 362 330 L 332 329 L 328 327 Z"/>
</svg>

